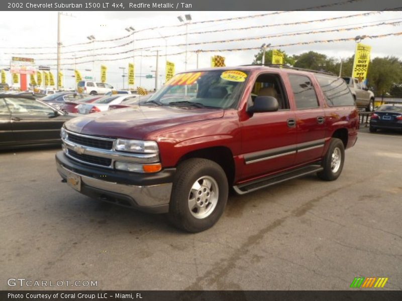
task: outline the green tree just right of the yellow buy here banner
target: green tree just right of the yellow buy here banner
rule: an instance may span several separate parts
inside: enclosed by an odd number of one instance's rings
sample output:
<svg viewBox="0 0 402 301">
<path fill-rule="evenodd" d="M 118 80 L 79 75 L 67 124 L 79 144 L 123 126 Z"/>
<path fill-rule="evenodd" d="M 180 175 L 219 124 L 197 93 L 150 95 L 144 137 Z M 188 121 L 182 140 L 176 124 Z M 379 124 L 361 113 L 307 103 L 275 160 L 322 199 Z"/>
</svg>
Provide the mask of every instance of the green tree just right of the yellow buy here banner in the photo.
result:
<svg viewBox="0 0 402 301">
<path fill-rule="evenodd" d="M 375 58 L 368 65 L 367 79 L 378 95 L 389 93 L 402 82 L 402 62 L 396 57 Z"/>
</svg>

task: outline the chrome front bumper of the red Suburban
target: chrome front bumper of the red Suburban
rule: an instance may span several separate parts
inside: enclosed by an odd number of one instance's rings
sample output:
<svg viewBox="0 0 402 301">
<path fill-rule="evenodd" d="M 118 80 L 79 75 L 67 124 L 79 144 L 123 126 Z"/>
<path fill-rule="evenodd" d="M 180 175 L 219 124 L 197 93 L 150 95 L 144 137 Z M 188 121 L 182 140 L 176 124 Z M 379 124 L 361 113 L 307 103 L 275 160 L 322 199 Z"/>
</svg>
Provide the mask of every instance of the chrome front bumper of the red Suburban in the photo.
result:
<svg viewBox="0 0 402 301">
<path fill-rule="evenodd" d="M 79 187 L 74 187 L 74 183 L 69 185 L 82 194 L 147 212 L 166 213 L 169 210 L 172 183 L 151 186 L 118 184 L 78 174 L 62 166 L 57 160 L 56 165 L 64 180 L 79 182 Z M 119 199 L 124 202 L 119 202 Z"/>
</svg>

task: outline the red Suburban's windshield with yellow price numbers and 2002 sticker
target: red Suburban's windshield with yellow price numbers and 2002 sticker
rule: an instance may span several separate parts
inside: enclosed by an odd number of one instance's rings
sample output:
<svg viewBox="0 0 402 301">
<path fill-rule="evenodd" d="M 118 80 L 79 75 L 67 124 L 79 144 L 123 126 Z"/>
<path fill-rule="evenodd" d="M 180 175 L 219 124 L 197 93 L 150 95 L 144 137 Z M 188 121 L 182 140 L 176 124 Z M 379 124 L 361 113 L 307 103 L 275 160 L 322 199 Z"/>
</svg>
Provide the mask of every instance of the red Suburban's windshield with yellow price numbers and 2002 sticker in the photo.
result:
<svg viewBox="0 0 402 301">
<path fill-rule="evenodd" d="M 247 72 L 238 70 L 176 74 L 145 104 L 236 107 L 247 76 Z"/>
</svg>

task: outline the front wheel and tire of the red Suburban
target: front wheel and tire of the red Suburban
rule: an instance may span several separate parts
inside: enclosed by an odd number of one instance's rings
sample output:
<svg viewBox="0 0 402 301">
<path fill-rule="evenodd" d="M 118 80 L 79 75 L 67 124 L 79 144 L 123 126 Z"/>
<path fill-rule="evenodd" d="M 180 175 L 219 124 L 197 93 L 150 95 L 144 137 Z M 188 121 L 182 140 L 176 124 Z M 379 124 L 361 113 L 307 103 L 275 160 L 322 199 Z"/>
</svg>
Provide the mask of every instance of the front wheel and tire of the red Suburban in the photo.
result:
<svg viewBox="0 0 402 301">
<path fill-rule="evenodd" d="M 228 193 L 228 179 L 220 165 L 207 159 L 186 160 L 174 177 L 169 220 L 187 232 L 207 230 L 221 217 Z"/>
</svg>

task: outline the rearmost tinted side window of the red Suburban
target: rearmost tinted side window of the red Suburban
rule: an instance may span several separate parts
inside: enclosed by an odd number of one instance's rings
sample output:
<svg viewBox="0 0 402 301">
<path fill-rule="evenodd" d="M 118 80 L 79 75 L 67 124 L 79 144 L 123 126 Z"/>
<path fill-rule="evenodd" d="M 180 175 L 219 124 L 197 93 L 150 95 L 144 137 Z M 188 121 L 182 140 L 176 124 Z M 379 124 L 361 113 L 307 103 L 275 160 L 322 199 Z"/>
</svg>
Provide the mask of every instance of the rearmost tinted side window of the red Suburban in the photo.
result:
<svg viewBox="0 0 402 301">
<path fill-rule="evenodd" d="M 342 78 L 323 74 L 316 74 L 316 78 L 329 106 L 355 105 L 352 93 Z"/>
</svg>

